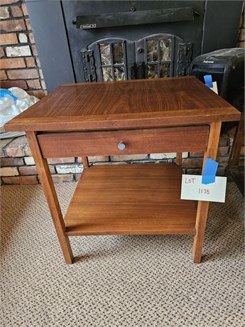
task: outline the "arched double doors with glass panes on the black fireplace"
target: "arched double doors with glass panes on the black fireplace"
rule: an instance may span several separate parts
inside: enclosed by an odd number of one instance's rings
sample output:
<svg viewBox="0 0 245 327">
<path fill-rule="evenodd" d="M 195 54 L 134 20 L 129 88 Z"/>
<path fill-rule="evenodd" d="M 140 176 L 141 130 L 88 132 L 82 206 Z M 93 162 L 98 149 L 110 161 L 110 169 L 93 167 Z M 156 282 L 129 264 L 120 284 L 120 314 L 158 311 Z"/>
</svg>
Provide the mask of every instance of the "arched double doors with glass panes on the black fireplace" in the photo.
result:
<svg viewBox="0 0 245 327">
<path fill-rule="evenodd" d="M 154 34 L 137 41 L 103 38 L 81 51 L 87 82 L 170 77 L 183 65 L 183 39 Z M 185 52 L 190 57 L 191 43 Z M 185 60 L 184 60 L 185 61 Z M 186 71 L 184 72 L 186 74 Z M 179 75 L 182 75 L 180 72 Z"/>
</svg>

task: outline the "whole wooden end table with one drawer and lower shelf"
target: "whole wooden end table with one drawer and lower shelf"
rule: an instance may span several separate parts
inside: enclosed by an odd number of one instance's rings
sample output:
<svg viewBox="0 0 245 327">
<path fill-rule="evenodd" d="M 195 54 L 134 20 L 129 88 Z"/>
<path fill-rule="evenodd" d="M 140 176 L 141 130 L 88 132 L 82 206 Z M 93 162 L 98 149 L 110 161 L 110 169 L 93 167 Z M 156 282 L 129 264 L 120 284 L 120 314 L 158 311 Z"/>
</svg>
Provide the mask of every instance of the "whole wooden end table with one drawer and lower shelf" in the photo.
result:
<svg viewBox="0 0 245 327">
<path fill-rule="evenodd" d="M 65 262 L 71 235 L 192 234 L 200 262 L 209 203 L 180 200 L 181 153 L 216 159 L 222 122 L 240 112 L 195 77 L 66 84 L 6 124 L 25 131 Z M 88 165 L 87 156 L 176 152 L 177 164 Z M 81 156 L 62 217 L 48 158 Z"/>
</svg>

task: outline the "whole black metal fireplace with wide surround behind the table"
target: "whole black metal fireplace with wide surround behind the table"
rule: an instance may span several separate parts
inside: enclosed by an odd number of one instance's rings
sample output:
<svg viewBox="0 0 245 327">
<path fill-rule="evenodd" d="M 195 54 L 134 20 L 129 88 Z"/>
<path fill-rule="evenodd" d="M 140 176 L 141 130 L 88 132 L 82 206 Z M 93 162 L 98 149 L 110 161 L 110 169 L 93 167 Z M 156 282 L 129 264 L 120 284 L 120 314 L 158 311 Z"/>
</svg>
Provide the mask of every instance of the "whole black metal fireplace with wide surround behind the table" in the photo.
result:
<svg viewBox="0 0 245 327">
<path fill-rule="evenodd" d="M 236 46 L 242 7 L 242 1 L 27 4 L 48 91 L 64 82 L 188 75 L 197 55 Z"/>
</svg>

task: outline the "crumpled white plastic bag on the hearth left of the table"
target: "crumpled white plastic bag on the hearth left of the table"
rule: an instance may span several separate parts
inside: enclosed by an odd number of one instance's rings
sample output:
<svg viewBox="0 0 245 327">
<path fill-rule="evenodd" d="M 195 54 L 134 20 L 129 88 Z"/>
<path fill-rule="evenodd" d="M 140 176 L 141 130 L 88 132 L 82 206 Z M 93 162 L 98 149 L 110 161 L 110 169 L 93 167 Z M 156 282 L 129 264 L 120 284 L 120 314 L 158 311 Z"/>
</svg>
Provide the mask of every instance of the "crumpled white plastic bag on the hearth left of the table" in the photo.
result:
<svg viewBox="0 0 245 327">
<path fill-rule="evenodd" d="M 39 101 L 37 97 L 28 95 L 26 91 L 19 87 L 10 87 L 9 91 L 12 92 L 14 97 L 17 97 L 17 100 L 14 100 L 11 95 L 0 97 L 0 139 L 24 135 L 25 132 L 5 132 L 4 124 Z"/>
</svg>

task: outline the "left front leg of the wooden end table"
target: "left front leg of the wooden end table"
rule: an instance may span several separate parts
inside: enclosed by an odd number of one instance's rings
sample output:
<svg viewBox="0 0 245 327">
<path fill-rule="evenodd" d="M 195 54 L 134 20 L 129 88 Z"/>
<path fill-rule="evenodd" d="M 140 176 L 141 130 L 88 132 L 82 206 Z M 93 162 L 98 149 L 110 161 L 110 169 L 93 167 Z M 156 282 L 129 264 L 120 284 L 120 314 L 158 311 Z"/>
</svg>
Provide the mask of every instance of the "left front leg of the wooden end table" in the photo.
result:
<svg viewBox="0 0 245 327">
<path fill-rule="evenodd" d="M 67 264 L 72 264 L 72 249 L 70 247 L 69 238 L 67 237 L 67 235 L 65 235 L 65 223 L 62 218 L 60 204 L 58 202 L 57 194 L 55 192 L 55 186 L 53 184 L 53 179 L 51 177 L 50 170 L 48 167 L 48 161 L 47 159 L 43 158 L 35 132 L 26 132 L 26 136 L 29 142 L 29 146 L 31 148 L 31 153 L 33 154 L 33 158 L 36 163 L 36 168 L 38 170 L 43 191 L 45 193 L 50 213 L 53 218 L 53 223 L 55 225 L 55 230 L 60 241 L 60 247 L 63 252 L 65 262 Z"/>
</svg>

